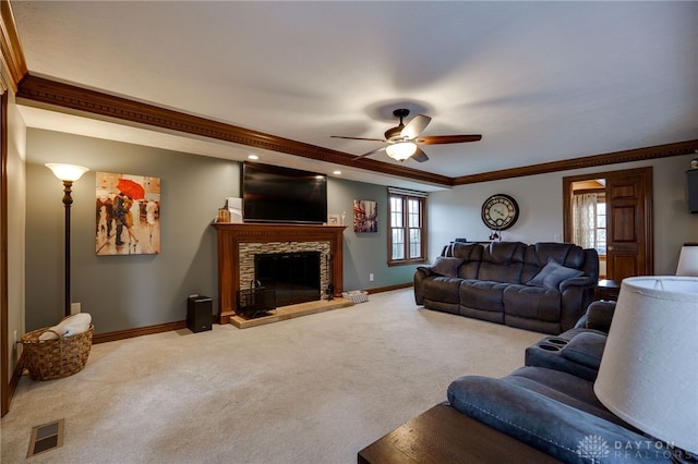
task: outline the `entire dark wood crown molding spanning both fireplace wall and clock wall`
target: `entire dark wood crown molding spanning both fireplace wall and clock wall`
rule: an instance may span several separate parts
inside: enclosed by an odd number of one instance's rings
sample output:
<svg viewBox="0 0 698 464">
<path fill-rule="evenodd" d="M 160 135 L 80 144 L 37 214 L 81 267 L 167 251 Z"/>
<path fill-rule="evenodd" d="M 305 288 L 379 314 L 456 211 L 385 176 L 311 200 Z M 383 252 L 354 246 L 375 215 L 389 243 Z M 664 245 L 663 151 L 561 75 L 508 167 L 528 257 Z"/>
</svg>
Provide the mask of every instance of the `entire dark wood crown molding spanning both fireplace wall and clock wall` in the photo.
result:
<svg viewBox="0 0 698 464">
<path fill-rule="evenodd" d="M 370 158 L 356 159 L 354 155 L 332 150 L 264 132 L 186 114 L 183 112 L 26 74 L 20 82 L 17 101 L 43 103 L 81 114 L 98 115 L 116 122 L 159 127 L 261 149 L 284 152 L 317 161 L 365 169 L 372 172 L 410 179 L 446 187 L 500 181 L 512 178 L 569 171 L 574 169 L 616 164 L 688 155 L 698 150 L 698 141 L 686 141 L 610 154 L 573 158 L 562 161 L 531 164 L 480 174 L 448 178 L 412 168 L 396 166 Z"/>
</svg>

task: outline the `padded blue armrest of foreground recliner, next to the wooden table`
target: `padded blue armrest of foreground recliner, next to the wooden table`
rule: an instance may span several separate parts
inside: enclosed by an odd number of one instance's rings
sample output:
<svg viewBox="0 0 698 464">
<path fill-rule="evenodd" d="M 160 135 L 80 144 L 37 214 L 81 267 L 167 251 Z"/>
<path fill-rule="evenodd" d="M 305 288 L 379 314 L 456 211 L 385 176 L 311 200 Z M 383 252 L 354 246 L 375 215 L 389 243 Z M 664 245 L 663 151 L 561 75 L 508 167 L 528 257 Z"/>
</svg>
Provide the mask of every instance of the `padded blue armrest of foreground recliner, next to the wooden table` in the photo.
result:
<svg viewBox="0 0 698 464">
<path fill-rule="evenodd" d="M 648 450 L 650 462 L 671 462 L 666 448 L 657 453 L 654 443 L 647 448 L 647 437 L 505 379 L 461 377 L 448 387 L 448 402 L 460 413 L 567 463 L 597 459 L 627 464 L 628 455 L 645 456 Z"/>
</svg>

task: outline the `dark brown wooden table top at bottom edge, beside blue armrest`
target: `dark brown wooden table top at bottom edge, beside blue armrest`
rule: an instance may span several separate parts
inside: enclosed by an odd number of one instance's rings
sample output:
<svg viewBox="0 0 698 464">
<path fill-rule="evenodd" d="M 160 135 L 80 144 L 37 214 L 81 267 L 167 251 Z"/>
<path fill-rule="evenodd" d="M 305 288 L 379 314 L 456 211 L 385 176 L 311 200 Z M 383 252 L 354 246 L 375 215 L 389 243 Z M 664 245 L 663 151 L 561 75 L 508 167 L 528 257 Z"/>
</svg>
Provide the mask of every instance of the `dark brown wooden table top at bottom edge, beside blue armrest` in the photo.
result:
<svg viewBox="0 0 698 464">
<path fill-rule="evenodd" d="M 438 404 L 359 451 L 359 464 L 559 463 L 453 407 Z"/>
</svg>

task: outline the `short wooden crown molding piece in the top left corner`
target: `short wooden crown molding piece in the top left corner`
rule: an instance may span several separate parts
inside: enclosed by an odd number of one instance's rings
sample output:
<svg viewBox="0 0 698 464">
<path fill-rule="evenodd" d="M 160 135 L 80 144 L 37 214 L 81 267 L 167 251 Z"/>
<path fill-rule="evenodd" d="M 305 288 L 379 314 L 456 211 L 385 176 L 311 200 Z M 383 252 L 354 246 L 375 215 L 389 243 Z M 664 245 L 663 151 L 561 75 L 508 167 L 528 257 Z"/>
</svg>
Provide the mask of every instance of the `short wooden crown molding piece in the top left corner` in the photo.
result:
<svg viewBox="0 0 698 464">
<path fill-rule="evenodd" d="M 17 83 L 27 74 L 20 35 L 8 0 L 0 1 L 0 51 L 2 52 L 2 87 L 17 89 Z"/>
</svg>

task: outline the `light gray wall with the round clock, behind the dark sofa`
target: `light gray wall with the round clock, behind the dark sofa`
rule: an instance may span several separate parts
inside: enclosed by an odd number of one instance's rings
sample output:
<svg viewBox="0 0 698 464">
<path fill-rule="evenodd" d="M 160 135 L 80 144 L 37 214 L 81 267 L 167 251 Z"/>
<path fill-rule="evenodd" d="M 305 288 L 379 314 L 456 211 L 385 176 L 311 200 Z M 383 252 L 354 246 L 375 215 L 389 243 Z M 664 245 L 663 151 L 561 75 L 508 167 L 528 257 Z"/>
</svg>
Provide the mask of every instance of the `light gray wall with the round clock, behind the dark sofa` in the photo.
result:
<svg viewBox="0 0 698 464">
<path fill-rule="evenodd" d="M 464 185 L 437 192 L 429 198 L 429 257 L 434 259 L 444 244 L 457 236 L 488 240 L 490 231 L 480 219 L 482 203 L 492 194 L 514 196 L 519 220 L 502 233 L 505 241 L 524 243 L 559 241 L 563 236 L 563 178 L 652 167 L 654 219 L 654 273 L 673 274 L 685 242 L 698 241 L 698 215 L 688 212 L 686 170 L 695 155 L 642 162 L 603 166 L 504 181 Z M 448 224 L 447 227 L 444 227 Z"/>
</svg>

